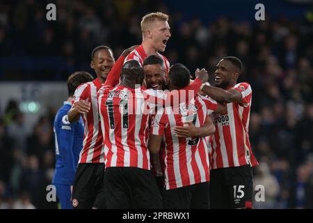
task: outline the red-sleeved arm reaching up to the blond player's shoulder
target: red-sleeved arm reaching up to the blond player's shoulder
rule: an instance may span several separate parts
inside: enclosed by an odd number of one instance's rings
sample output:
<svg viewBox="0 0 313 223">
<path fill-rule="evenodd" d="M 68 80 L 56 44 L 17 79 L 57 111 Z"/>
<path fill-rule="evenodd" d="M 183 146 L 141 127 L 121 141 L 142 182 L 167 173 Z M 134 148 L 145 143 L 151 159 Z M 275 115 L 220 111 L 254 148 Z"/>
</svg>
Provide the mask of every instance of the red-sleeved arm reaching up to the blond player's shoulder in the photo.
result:
<svg viewBox="0 0 313 223">
<path fill-rule="evenodd" d="M 115 86 L 116 84 L 118 84 L 118 81 L 120 79 L 120 72 L 122 70 L 122 66 L 127 55 L 130 52 L 132 52 L 134 49 L 136 49 L 136 47 L 138 46 L 139 45 L 134 45 L 132 47 L 125 49 L 122 52 L 122 54 L 120 55 L 120 57 L 118 58 L 114 66 L 112 67 L 111 71 L 109 72 L 108 77 L 106 77 L 106 82 L 104 82 L 104 86 Z"/>
</svg>

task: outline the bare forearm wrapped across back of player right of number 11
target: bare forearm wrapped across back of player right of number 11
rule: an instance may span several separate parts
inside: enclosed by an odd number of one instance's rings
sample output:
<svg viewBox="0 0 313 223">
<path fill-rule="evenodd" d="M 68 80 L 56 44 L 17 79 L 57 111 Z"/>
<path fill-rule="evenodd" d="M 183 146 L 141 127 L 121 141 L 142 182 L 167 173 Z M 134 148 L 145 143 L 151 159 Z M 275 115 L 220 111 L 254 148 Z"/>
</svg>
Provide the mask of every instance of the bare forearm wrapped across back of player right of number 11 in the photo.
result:
<svg viewBox="0 0 313 223">
<path fill-rule="evenodd" d="M 195 127 L 192 122 L 186 123 L 184 126 L 175 126 L 173 130 L 177 137 L 207 137 L 215 132 L 215 126 L 210 116 L 207 116 L 202 127 Z"/>
</svg>

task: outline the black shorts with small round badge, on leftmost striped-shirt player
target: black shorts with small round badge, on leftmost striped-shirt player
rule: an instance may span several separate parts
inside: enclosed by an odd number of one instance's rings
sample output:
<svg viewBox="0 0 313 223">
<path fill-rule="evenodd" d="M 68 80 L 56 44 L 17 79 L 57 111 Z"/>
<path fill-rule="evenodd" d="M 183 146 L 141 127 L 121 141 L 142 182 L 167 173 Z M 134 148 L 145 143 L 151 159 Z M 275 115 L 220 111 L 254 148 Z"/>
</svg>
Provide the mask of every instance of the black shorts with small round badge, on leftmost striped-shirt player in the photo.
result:
<svg viewBox="0 0 313 223">
<path fill-rule="evenodd" d="M 104 163 L 81 163 L 75 175 L 72 206 L 77 209 L 105 208 Z"/>
</svg>

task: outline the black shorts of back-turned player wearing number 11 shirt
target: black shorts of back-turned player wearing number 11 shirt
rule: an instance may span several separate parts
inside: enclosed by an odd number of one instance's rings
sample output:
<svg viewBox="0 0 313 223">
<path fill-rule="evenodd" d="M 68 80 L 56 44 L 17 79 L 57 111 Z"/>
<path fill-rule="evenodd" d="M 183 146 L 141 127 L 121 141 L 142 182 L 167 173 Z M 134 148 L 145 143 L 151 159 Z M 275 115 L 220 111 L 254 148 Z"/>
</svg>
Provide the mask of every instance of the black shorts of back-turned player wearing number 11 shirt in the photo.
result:
<svg viewBox="0 0 313 223">
<path fill-rule="evenodd" d="M 152 171 L 136 167 L 106 168 L 106 208 L 161 209 L 161 194 Z"/>
</svg>

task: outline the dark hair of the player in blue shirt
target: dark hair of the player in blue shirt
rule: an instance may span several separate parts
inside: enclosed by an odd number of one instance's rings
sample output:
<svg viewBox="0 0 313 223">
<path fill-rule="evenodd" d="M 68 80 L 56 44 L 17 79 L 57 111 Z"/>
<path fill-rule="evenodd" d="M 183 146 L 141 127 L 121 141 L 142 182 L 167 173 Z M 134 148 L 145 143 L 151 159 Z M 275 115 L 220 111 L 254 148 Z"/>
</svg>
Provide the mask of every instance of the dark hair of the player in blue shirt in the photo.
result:
<svg viewBox="0 0 313 223">
<path fill-rule="evenodd" d="M 68 95 L 74 95 L 75 90 L 77 87 L 86 82 L 92 82 L 93 76 L 86 71 L 76 71 L 67 78 L 67 91 Z"/>
</svg>

